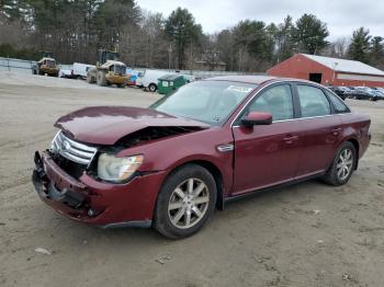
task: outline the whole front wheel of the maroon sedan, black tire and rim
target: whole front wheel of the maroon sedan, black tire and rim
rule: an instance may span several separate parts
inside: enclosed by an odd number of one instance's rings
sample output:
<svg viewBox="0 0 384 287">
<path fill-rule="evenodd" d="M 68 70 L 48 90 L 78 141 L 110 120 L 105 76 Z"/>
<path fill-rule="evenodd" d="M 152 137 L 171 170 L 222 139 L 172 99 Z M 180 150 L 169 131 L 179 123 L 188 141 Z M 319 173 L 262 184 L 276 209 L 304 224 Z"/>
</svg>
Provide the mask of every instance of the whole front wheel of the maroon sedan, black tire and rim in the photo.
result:
<svg viewBox="0 0 384 287">
<path fill-rule="evenodd" d="M 196 191 L 199 194 L 193 195 Z M 179 168 L 158 195 L 154 227 L 169 239 L 190 237 L 211 217 L 216 198 L 216 183 L 206 169 L 197 164 Z"/>
</svg>

